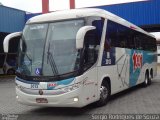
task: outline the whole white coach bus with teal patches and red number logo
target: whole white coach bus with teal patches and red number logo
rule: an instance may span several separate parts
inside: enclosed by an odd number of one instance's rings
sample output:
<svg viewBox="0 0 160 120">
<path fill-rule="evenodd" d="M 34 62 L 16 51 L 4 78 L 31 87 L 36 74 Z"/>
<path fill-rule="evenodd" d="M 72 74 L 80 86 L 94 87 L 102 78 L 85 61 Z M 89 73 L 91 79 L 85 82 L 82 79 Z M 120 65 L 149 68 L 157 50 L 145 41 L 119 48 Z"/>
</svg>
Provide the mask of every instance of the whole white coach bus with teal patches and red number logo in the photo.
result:
<svg viewBox="0 0 160 120">
<path fill-rule="evenodd" d="M 5 52 L 12 38 L 5 39 Z M 33 17 L 21 34 L 16 98 L 38 106 L 105 105 L 110 95 L 151 84 L 156 50 L 152 35 L 105 10 Z"/>
</svg>

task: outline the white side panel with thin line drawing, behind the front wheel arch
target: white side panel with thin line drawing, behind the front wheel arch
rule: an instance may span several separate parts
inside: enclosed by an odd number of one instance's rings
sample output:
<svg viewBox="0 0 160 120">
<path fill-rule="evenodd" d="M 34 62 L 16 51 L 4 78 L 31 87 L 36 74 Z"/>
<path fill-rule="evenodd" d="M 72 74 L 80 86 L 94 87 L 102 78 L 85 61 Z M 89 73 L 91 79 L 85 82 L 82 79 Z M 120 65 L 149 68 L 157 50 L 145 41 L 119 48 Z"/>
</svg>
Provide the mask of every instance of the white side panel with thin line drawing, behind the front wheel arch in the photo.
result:
<svg viewBox="0 0 160 120">
<path fill-rule="evenodd" d="M 99 87 L 105 77 L 110 78 L 111 94 L 129 88 L 130 56 L 124 48 L 111 48 L 103 51 L 102 67 L 98 68 Z"/>
</svg>

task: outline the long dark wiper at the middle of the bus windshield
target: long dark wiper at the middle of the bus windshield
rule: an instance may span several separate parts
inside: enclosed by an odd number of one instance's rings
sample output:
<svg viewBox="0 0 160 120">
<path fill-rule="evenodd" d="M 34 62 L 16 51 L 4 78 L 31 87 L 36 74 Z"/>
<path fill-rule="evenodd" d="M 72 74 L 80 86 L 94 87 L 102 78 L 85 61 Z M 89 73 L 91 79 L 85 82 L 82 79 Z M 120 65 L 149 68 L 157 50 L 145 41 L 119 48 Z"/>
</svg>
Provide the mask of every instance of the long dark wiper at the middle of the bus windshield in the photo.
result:
<svg viewBox="0 0 160 120">
<path fill-rule="evenodd" d="M 49 43 L 48 51 L 47 51 L 47 64 L 48 64 L 48 61 L 49 61 L 50 65 L 51 65 L 51 69 L 52 69 L 53 74 L 55 76 L 58 76 L 58 70 L 57 70 L 55 61 L 54 61 L 52 53 L 50 52 L 50 43 Z"/>
</svg>

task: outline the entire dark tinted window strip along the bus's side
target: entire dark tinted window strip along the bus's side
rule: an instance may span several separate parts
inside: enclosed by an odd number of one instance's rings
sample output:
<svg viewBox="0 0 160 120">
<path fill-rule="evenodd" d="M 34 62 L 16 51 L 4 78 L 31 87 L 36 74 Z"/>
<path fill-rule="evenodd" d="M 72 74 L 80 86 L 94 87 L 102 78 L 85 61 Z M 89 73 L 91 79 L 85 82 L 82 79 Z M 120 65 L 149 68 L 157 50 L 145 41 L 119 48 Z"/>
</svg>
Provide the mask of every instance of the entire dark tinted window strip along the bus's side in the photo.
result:
<svg viewBox="0 0 160 120">
<path fill-rule="evenodd" d="M 105 49 L 110 47 L 147 51 L 156 51 L 157 49 L 154 38 L 108 20 Z"/>
</svg>

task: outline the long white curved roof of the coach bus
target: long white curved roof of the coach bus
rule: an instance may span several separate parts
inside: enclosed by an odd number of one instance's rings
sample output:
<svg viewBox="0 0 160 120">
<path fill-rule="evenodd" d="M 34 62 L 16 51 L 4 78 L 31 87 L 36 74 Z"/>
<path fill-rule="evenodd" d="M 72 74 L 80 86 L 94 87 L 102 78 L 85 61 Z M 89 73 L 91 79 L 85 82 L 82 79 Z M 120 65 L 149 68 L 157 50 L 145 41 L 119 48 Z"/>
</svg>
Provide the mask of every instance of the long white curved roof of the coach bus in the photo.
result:
<svg viewBox="0 0 160 120">
<path fill-rule="evenodd" d="M 72 9 L 72 10 L 51 12 L 51 13 L 32 17 L 31 19 L 29 19 L 27 21 L 27 24 L 59 21 L 59 20 L 65 20 L 65 19 L 75 19 L 75 18 L 82 18 L 82 17 L 87 17 L 87 16 L 98 16 L 98 17 L 110 19 L 114 22 L 120 23 L 124 26 L 131 28 L 131 29 L 142 32 L 142 33 L 147 34 L 151 37 L 154 37 L 153 35 L 148 34 L 143 29 L 126 21 L 125 19 L 118 17 L 117 15 L 112 14 L 106 10 L 99 9 L 99 8 L 81 8 L 81 9 Z"/>
</svg>

